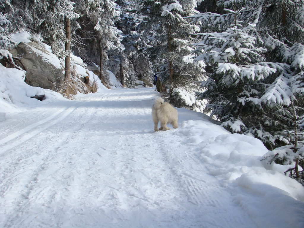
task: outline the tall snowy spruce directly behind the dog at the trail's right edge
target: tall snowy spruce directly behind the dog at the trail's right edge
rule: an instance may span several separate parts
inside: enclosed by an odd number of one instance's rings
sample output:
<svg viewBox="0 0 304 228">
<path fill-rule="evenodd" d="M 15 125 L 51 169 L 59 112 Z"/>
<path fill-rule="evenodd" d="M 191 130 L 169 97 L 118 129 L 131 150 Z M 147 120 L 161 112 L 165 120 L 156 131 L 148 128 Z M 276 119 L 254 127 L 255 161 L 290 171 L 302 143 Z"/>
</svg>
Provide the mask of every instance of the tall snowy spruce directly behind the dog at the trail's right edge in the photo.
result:
<svg viewBox="0 0 304 228">
<path fill-rule="evenodd" d="M 203 68 L 193 61 L 183 61 L 190 54 L 192 37 L 196 26 L 185 16 L 191 15 L 196 1 L 140 1 L 140 13 L 146 18 L 142 28 L 150 41 L 150 55 L 155 62 L 157 77 L 165 85 L 170 102 L 177 107 L 194 109 L 194 90 L 198 79 L 203 77 Z M 201 106 L 201 104 L 198 104 Z"/>
</svg>

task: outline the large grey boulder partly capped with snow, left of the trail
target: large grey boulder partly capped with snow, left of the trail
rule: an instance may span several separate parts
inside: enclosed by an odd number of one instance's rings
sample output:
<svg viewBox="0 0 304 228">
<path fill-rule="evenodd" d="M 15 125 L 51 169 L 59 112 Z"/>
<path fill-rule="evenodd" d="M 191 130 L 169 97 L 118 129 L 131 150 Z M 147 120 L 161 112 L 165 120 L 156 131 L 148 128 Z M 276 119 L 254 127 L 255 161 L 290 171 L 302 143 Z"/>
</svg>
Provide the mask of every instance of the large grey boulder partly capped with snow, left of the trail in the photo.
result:
<svg viewBox="0 0 304 228">
<path fill-rule="evenodd" d="M 10 53 L 23 64 L 27 84 L 54 91 L 63 87 L 64 67 L 50 51 L 34 42 L 21 42 Z"/>
</svg>

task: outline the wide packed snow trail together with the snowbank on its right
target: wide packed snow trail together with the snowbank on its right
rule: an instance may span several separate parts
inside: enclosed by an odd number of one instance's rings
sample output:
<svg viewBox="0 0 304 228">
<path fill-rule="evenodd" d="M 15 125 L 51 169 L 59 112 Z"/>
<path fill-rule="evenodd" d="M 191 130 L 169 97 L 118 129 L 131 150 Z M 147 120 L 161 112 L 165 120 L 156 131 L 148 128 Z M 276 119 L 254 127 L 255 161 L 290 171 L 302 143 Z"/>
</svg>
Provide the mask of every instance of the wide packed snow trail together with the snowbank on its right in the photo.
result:
<svg viewBox="0 0 304 228">
<path fill-rule="evenodd" d="M 157 95 L 113 90 L 7 116 L 0 227 L 303 227 L 302 186 L 265 170 L 259 140 L 186 109 L 178 129 L 154 132 Z"/>
</svg>

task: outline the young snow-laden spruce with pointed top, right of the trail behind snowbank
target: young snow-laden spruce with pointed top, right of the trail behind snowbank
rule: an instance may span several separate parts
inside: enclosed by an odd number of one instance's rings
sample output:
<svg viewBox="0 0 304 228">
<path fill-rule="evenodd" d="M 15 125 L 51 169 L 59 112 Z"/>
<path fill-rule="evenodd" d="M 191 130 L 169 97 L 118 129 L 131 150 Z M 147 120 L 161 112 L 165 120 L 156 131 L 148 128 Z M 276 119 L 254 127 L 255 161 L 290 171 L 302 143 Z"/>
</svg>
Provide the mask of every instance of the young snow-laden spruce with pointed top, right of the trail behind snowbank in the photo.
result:
<svg viewBox="0 0 304 228">
<path fill-rule="evenodd" d="M 251 35 L 255 24 L 245 27 L 244 21 L 239 20 L 241 10 L 227 9 L 230 20 L 224 19 L 228 15 L 206 15 L 212 21 L 232 24 L 223 32 L 198 33 L 201 41 L 195 43 L 194 51 L 196 61 L 202 60 L 211 67 L 208 80 L 202 83 L 206 92 L 198 97 L 208 99 L 206 110 L 234 132 L 245 131 L 246 123 L 254 121 L 252 113 L 262 112 L 254 105 L 258 82 L 276 71 L 276 66 L 262 63 L 265 49 L 257 47 L 256 38 Z"/>
</svg>

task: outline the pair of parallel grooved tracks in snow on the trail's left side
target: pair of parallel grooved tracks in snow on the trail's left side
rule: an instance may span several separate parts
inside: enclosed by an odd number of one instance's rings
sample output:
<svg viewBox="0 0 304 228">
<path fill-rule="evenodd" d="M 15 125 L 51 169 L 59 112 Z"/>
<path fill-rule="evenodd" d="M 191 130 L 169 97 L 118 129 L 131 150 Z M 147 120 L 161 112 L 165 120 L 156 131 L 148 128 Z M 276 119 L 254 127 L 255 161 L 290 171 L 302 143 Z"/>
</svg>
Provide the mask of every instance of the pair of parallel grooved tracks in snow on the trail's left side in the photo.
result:
<svg viewBox="0 0 304 228">
<path fill-rule="evenodd" d="M 68 115 L 71 114 L 71 112 L 73 112 L 75 109 L 77 109 L 79 106 L 83 105 L 86 102 L 77 102 L 76 104 L 70 106 L 69 108 L 63 108 L 58 110 L 57 112 L 55 112 L 53 115 L 40 120 L 37 123 L 31 124 L 9 136 L 6 136 L 5 138 L 3 138 L 2 140 L 0 140 L 0 156 L 5 153 L 7 150 L 10 150 L 18 145 L 20 145 L 21 143 L 25 142 L 26 140 L 29 140 L 30 138 L 32 138 L 33 136 L 39 134 L 40 132 L 46 130 L 47 128 L 49 128 L 50 126 L 55 125 L 56 123 L 59 123 L 60 121 L 62 121 L 64 118 L 66 118 Z M 62 114 L 63 113 L 63 114 Z M 62 114 L 60 116 L 60 114 Z M 58 119 L 53 120 L 55 117 L 60 116 Z M 49 122 L 49 123 L 48 123 Z M 42 126 L 43 124 L 45 124 L 44 126 Z M 42 126 L 42 127 L 40 127 Z M 33 131 L 29 132 L 30 130 L 34 129 Z M 23 136 L 22 136 L 23 135 Z M 3 144 L 16 139 L 17 137 L 21 138 L 14 142 L 14 143 L 10 143 L 9 145 L 4 145 Z"/>
</svg>

